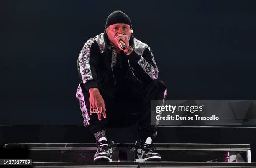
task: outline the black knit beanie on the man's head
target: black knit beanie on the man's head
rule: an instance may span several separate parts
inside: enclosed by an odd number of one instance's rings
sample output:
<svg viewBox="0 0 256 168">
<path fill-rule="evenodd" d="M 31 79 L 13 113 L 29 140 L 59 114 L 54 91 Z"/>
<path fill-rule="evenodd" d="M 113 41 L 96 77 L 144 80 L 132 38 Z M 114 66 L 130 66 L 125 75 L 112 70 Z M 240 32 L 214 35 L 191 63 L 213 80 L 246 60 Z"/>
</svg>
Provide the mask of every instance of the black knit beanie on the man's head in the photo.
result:
<svg viewBox="0 0 256 168">
<path fill-rule="evenodd" d="M 120 10 L 114 11 L 113 13 L 110 13 L 110 15 L 108 15 L 105 28 L 115 23 L 125 23 L 132 27 L 130 18 Z"/>
</svg>

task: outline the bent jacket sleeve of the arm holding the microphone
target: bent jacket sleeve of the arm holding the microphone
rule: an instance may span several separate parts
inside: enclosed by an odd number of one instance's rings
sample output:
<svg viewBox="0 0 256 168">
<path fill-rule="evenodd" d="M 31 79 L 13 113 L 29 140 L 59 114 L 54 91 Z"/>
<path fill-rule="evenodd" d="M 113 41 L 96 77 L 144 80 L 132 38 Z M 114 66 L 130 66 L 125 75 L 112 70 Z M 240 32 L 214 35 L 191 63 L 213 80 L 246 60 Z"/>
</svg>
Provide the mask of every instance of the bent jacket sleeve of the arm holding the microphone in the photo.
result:
<svg viewBox="0 0 256 168">
<path fill-rule="evenodd" d="M 145 46 L 142 55 L 140 55 L 140 52 L 133 50 L 128 55 L 128 60 L 134 75 L 142 82 L 157 79 L 159 70 L 148 45 Z"/>
</svg>

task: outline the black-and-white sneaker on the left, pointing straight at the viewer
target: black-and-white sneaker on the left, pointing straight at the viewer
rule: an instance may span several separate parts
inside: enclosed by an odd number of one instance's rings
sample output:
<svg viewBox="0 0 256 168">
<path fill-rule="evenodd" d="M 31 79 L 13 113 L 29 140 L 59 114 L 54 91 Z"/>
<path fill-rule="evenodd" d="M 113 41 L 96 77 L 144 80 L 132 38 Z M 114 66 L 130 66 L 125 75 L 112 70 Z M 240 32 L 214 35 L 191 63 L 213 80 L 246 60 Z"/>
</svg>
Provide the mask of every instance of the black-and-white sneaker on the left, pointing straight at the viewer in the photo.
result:
<svg viewBox="0 0 256 168">
<path fill-rule="evenodd" d="M 94 162 L 109 162 L 113 153 L 114 141 L 101 140 L 97 142 L 97 152 L 93 157 Z"/>
</svg>

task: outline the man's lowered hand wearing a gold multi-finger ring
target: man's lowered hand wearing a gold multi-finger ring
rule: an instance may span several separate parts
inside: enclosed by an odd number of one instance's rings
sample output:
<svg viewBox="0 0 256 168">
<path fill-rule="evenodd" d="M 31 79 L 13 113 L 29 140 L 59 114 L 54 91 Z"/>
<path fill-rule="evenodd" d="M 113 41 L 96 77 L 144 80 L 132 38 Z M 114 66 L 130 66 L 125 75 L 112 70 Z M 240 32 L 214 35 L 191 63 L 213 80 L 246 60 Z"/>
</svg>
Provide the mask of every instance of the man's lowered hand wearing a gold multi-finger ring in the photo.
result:
<svg viewBox="0 0 256 168">
<path fill-rule="evenodd" d="M 92 110 L 97 110 L 98 119 L 101 120 L 101 113 L 103 114 L 103 117 L 106 118 L 106 108 L 105 103 L 100 95 L 100 92 L 98 88 L 90 88 L 89 89 L 90 97 L 89 97 L 89 103 L 90 103 L 90 115 L 92 115 Z"/>
</svg>

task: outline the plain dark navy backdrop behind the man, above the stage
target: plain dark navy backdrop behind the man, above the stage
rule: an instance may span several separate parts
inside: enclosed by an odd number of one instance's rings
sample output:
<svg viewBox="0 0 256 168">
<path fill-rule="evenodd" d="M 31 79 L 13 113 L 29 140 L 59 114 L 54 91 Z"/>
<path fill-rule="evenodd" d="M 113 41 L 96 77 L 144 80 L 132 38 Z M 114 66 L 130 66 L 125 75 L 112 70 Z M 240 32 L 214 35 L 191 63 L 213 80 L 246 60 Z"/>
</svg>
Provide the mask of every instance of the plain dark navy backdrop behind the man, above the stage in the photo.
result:
<svg viewBox="0 0 256 168">
<path fill-rule="evenodd" d="M 4 0 L 0 6 L 0 125 L 82 125 L 77 57 L 114 10 L 125 12 L 133 36 L 151 47 L 167 99 L 256 98 L 256 1 Z"/>
</svg>

